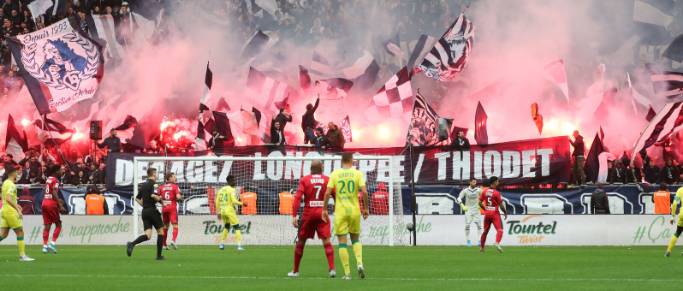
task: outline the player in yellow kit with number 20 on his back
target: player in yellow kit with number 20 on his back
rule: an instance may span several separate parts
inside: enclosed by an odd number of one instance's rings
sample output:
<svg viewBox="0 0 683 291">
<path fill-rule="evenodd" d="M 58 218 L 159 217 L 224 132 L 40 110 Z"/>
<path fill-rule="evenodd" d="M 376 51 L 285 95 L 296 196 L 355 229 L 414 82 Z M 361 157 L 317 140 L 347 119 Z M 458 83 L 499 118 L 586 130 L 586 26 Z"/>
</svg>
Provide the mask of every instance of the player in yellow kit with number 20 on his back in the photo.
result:
<svg viewBox="0 0 683 291">
<path fill-rule="evenodd" d="M 365 269 L 363 268 L 363 247 L 358 240 L 360 236 L 360 206 L 358 205 L 358 192 L 363 192 L 363 205 L 366 205 L 363 210 L 363 219 L 370 216 L 368 211 L 368 190 L 365 189 L 365 179 L 363 173 L 353 169 L 353 155 L 349 152 L 342 154 L 342 168 L 332 172 L 330 181 L 327 183 L 327 191 L 325 191 L 325 201 L 323 205 L 327 205 L 330 201 L 332 191 L 337 192 L 335 200 L 334 211 L 334 235 L 339 239 L 339 258 L 344 266 L 344 280 L 351 279 L 351 271 L 349 271 L 349 252 L 346 250 L 346 235 L 351 235 L 353 243 L 353 253 L 356 255 L 356 262 L 358 263 L 358 274 L 361 278 L 365 278 Z M 323 221 L 327 222 L 329 214 L 327 207 L 323 207 L 322 214 Z"/>
</svg>

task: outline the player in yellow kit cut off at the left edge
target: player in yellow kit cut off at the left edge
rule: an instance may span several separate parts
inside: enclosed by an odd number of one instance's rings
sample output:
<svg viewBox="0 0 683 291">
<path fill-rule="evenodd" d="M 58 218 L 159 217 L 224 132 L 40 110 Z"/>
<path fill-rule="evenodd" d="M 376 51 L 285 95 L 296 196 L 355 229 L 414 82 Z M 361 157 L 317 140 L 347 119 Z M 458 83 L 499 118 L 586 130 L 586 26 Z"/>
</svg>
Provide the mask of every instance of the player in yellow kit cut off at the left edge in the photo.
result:
<svg viewBox="0 0 683 291">
<path fill-rule="evenodd" d="M 6 239 L 9 235 L 9 229 L 12 228 L 17 235 L 17 246 L 19 246 L 19 261 L 35 261 L 29 258 L 24 253 L 24 227 L 21 224 L 21 219 L 24 215 L 21 213 L 21 207 L 17 204 L 17 186 L 14 182 L 17 180 L 17 168 L 9 167 L 7 171 L 7 180 L 2 183 L 2 209 L 0 209 L 0 241 Z"/>
</svg>

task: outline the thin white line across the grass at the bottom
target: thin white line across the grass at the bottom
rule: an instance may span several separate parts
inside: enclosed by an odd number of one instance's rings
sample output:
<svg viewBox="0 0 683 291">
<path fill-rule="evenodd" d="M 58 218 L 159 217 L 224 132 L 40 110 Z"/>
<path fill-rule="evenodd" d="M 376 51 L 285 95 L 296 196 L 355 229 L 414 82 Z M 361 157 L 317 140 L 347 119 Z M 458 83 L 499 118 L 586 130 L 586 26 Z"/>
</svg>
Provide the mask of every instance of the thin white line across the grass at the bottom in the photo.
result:
<svg viewBox="0 0 683 291">
<path fill-rule="evenodd" d="M 288 278 L 288 277 L 249 277 L 249 276 L 150 276 L 150 275 L 68 275 L 68 274 L 1 274 L 0 277 L 53 277 L 53 278 L 142 278 L 142 279 L 247 279 L 247 280 L 328 280 L 327 277 Z M 560 281 L 560 282 L 683 282 L 683 279 L 610 279 L 610 278 L 366 278 L 377 281 Z"/>
</svg>

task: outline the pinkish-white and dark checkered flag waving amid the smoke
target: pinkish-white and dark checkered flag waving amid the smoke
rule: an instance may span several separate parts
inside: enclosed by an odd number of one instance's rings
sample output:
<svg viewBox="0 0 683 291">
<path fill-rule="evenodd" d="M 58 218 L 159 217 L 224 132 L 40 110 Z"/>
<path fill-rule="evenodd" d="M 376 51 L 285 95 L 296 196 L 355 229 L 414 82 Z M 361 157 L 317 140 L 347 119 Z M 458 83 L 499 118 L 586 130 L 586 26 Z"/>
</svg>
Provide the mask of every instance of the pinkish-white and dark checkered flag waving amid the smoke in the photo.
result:
<svg viewBox="0 0 683 291">
<path fill-rule="evenodd" d="M 373 122 L 403 117 L 409 120 L 413 108 L 413 89 L 408 69 L 403 67 L 372 97 L 365 117 Z"/>
</svg>

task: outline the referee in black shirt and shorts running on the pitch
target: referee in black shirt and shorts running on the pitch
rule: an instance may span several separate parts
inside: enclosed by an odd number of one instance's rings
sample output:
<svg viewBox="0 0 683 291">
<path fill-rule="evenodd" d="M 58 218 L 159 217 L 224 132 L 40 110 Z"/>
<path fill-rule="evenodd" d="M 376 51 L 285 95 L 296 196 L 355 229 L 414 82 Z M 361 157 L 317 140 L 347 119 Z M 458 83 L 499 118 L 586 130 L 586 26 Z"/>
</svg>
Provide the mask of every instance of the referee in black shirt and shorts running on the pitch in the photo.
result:
<svg viewBox="0 0 683 291">
<path fill-rule="evenodd" d="M 156 180 L 157 169 L 147 169 L 147 181 L 142 184 L 142 187 L 140 187 L 138 191 L 138 195 L 135 196 L 135 201 L 142 206 L 142 224 L 145 227 L 145 234 L 139 236 L 132 242 L 128 242 L 128 249 L 126 252 L 129 257 L 133 253 L 133 247 L 152 238 L 152 226 L 154 226 L 157 230 L 157 261 L 166 260 L 166 258 L 161 256 L 161 248 L 164 244 L 164 223 L 161 220 L 161 213 L 155 205 L 156 203 L 164 205 L 164 202 L 159 195 L 157 195 L 158 186 Z"/>
</svg>

